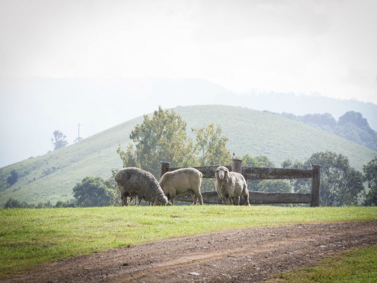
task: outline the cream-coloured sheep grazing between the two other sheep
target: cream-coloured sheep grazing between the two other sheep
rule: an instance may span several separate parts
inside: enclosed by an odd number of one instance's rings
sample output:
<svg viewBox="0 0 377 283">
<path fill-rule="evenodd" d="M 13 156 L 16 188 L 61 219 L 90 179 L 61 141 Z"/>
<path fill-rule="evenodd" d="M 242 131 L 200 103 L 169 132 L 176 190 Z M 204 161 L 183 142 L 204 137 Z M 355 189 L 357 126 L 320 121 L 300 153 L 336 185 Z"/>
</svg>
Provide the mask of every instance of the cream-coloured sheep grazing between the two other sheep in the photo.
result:
<svg viewBox="0 0 377 283">
<path fill-rule="evenodd" d="M 172 200 L 179 195 L 187 195 L 192 193 L 193 204 L 197 204 L 199 199 L 200 205 L 203 205 L 203 199 L 200 194 L 202 174 L 195 168 L 182 168 L 172 172 L 166 172 L 160 179 L 160 186 L 168 199 Z"/>
</svg>

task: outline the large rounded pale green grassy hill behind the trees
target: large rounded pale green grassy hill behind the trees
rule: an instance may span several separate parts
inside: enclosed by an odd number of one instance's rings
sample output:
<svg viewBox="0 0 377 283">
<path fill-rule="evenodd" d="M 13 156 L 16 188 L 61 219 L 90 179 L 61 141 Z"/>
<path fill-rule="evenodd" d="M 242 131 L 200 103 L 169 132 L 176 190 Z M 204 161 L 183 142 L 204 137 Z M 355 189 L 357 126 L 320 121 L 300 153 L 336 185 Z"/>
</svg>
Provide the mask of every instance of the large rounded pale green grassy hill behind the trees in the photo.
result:
<svg viewBox="0 0 377 283">
<path fill-rule="evenodd" d="M 191 128 L 220 124 L 229 138 L 228 149 L 236 156 L 245 153 L 267 155 L 279 166 L 283 160 L 305 160 L 318 151 L 334 151 L 349 157 L 351 166 L 361 169 L 377 152 L 328 132 L 275 114 L 243 107 L 199 105 L 174 110 Z M 143 117 L 124 122 L 73 145 L 14 163 L 0 169 L 0 206 L 10 197 L 29 203 L 72 198 L 72 188 L 85 176 L 109 177 L 122 162 L 116 153 L 119 144 L 130 142 L 131 130 Z M 174 166 L 174 164 L 173 164 Z M 8 187 L 6 178 L 15 170 L 18 181 Z"/>
</svg>

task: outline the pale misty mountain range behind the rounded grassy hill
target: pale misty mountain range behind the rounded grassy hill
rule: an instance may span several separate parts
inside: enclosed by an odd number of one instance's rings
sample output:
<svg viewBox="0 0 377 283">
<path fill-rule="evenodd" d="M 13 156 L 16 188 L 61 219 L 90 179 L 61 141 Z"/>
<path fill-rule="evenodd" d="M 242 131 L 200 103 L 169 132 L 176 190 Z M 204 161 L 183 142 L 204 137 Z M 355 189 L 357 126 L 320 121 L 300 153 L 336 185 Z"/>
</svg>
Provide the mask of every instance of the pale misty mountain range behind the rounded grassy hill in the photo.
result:
<svg viewBox="0 0 377 283">
<path fill-rule="evenodd" d="M 357 96 L 357 94 L 355 94 Z M 377 130 L 377 105 L 318 95 L 251 90 L 233 93 L 202 79 L 0 80 L 0 166 L 52 150 L 55 130 L 71 144 L 113 125 L 157 109 L 178 105 L 222 104 L 295 115 L 361 112 Z"/>
</svg>

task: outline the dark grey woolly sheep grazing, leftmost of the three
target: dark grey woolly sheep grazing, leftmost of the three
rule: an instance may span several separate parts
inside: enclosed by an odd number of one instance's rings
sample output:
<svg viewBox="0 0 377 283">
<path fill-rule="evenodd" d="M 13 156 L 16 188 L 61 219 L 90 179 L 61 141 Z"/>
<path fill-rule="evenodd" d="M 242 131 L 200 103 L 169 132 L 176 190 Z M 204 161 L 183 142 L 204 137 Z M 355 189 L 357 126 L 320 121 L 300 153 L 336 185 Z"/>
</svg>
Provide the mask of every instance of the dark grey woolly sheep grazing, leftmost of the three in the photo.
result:
<svg viewBox="0 0 377 283">
<path fill-rule="evenodd" d="M 127 206 L 127 197 L 138 197 L 138 205 L 142 199 L 150 205 L 171 205 L 164 195 L 156 178 L 149 172 L 135 167 L 119 170 L 115 181 L 121 193 L 122 206 Z"/>
</svg>

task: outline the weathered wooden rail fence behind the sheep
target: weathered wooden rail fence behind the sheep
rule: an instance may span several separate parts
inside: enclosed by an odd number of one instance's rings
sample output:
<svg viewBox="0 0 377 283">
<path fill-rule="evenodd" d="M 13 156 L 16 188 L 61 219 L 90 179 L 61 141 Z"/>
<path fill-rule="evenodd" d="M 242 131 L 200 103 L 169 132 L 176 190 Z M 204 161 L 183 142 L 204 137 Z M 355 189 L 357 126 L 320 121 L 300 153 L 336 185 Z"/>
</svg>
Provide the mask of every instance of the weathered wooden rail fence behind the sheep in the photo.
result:
<svg viewBox="0 0 377 283">
<path fill-rule="evenodd" d="M 203 178 L 214 178 L 214 173 L 218 166 L 194 167 L 203 174 Z M 291 203 L 308 203 L 311 207 L 320 205 L 320 184 L 321 184 L 321 166 L 312 165 L 310 170 L 287 169 L 287 168 L 263 168 L 263 167 L 242 167 L 242 160 L 232 159 L 231 166 L 224 166 L 229 171 L 238 172 L 247 180 L 260 179 L 301 179 L 311 178 L 312 186 L 310 194 L 293 194 L 293 193 L 270 193 L 249 191 L 250 204 L 291 204 Z M 182 167 L 180 167 L 182 168 Z M 170 162 L 161 161 L 161 176 L 166 172 L 171 172 L 180 168 L 171 168 Z M 202 192 L 203 203 L 222 204 L 220 197 L 216 192 Z M 192 202 L 192 196 L 177 196 L 176 201 Z M 241 199 L 241 204 L 242 204 Z"/>
</svg>

